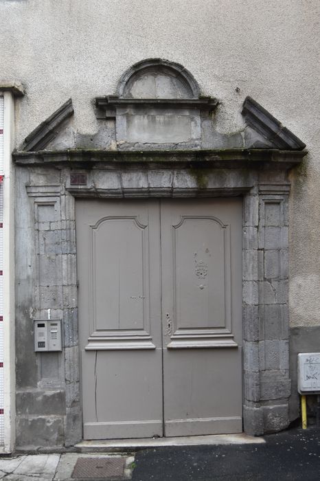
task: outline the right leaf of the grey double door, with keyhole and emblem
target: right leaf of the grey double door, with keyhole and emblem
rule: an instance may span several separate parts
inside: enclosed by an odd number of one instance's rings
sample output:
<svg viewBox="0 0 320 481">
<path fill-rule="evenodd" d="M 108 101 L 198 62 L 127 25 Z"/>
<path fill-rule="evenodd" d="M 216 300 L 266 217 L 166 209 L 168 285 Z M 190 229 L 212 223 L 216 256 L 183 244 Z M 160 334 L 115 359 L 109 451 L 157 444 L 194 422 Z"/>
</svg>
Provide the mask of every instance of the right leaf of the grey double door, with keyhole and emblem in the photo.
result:
<svg viewBox="0 0 320 481">
<path fill-rule="evenodd" d="M 240 199 L 161 201 L 165 436 L 242 431 L 241 227 Z"/>
</svg>

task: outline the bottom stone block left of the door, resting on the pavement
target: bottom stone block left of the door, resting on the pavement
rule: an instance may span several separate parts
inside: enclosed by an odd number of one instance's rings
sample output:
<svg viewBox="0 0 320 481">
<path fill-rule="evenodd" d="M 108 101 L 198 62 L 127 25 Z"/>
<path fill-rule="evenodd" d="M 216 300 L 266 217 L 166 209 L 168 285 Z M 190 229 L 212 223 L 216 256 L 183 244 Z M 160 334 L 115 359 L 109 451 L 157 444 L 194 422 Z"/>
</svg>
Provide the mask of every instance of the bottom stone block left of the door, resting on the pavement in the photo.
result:
<svg viewBox="0 0 320 481">
<path fill-rule="evenodd" d="M 65 438 L 64 416 L 17 416 L 16 447 L 62 447 Z"/>
</svg>

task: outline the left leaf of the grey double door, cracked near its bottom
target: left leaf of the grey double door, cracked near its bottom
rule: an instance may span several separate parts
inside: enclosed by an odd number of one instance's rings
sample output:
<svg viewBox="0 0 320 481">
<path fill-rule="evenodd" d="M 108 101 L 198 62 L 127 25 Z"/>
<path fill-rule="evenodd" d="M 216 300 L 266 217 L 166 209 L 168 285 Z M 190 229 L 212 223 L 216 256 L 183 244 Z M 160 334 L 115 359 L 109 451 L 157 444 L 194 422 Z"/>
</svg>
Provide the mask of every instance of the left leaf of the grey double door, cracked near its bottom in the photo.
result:
<svg viewBox="0 0 320 481">
<path fill-rule="evenodd" d="M 84 438 L 162 436 L 159 201 L 77 200 L 76 226 Z"/>
</svg>

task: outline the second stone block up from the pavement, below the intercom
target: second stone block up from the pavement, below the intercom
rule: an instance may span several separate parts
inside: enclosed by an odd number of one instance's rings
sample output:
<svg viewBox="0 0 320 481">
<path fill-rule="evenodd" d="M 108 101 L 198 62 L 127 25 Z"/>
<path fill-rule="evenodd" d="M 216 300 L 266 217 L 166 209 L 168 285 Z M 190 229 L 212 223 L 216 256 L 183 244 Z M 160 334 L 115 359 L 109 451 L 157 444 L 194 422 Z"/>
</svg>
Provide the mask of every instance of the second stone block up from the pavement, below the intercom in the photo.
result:
<svg viewBox="0 0 320 481">
<path fill-rule="evenodd" d="M 16 414 L 65 415 L 65 391 L 25 390 L 16 392 Z"/>
</svg>

